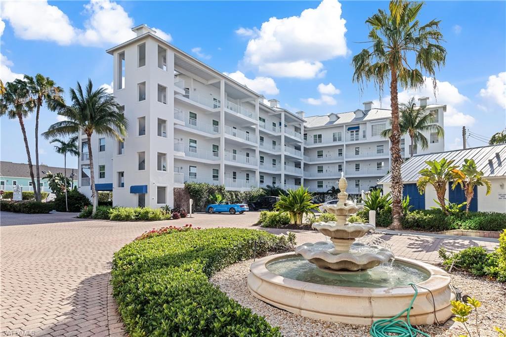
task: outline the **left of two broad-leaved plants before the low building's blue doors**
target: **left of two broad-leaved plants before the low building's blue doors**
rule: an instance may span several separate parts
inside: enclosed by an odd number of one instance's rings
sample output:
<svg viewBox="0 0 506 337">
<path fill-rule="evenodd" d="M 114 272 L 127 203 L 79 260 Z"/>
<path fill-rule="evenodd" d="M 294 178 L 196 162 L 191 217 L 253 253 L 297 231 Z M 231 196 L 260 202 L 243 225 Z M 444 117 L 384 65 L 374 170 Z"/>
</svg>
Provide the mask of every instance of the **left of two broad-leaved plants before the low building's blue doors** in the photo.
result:
<svg viewBox="0 0 506 337">
<path fill-rule="evenodd" d="M 444 214 L 448 214 L 445 206 L 446 186 L 448 182 L 453 179 L 452 171 L 457 167 L 453 165 L 453 160 L 443 158 L 441 160 L 427 160 L 425 162 L 429 167 L 423 168 L 418 172 L 421 175 L 416 182 L 420 194 L 425 192 L 428 184 L 431 184 L 436 191 L 436 196 L 441 205 L 441 210 Z"/>
</svg>

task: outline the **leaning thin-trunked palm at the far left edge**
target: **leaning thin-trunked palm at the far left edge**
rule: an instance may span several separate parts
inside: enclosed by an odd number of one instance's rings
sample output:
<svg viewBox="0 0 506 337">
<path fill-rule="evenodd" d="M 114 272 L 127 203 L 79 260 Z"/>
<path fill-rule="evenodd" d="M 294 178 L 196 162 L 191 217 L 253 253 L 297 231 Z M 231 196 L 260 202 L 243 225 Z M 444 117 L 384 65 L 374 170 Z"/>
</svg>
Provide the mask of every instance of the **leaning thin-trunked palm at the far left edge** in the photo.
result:
<svg viewBox="0 0 506 337">
<path fill-rule="evenodd" d="M 29 113 L 29 92 L 26 82 L 16 79 L 13 82 L 7 82 L 5 91 L 0 99 L 0 116 L 7 115 L 9 119 L 17 118 L 21 133 L 23 134 L 23 141 L 25 142 L 26 156 L 28 158 L 28 171 L 33 186 L 33 191 L 36 191 L 35 178 L 33 175 L 33 165 L 30 155 L 30 147 L 28 146 L 28 138 L 26 137 L 26 129 L 24 118 Z"/>
</svg>

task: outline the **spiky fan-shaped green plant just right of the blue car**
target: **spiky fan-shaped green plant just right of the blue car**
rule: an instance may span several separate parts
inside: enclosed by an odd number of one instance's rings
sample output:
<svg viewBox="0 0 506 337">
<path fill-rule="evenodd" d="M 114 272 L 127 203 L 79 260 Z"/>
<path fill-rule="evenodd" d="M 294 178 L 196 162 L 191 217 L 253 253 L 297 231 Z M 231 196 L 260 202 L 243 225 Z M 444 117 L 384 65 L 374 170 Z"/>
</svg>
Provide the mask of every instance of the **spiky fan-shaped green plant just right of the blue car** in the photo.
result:
<svg viewBox="0 0 506 337">
<path fill-rule="evenodd" d="M 290 224 L 302 225 L 305 215 L 311 213 L 312 210 L 318 210 L 318 206 L 312 200 L 313 195 L 301 186 L 296 190 L 288 190 L 287 195 L 281 195 L 279 201 L 274 204 L 274 209 L 288 213 Z"/>
</svg>

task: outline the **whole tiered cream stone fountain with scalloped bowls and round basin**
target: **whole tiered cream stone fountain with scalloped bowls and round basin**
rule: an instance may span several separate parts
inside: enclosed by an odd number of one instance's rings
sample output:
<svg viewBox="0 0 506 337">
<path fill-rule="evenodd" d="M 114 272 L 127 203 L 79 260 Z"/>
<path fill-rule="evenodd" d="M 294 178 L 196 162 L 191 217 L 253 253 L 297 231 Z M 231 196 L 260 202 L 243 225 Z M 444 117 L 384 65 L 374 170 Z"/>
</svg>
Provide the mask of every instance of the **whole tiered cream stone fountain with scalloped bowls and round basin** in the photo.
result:
<svg viewBox="0 0 506 337">
<path fill-rule="evenodd" d="M 369 325 L 404 310 L 413 298 L 409 284 L 415 283 L 420 287 L 410 313 L 411 324 L 447 320 L 451 316 L 450 300 L 454 299 L 450 276 L 423 262 L 404 258 L 393 261 L 390 249 L 356 241 L 374 226 L 346 221 L 357 212 L 357 206 L 347 200 L 343 176 L 339 188 L 339 202 L 326 206 L 338 220 L 313 224 L 330 242 L 304 243 L 295 254 L 254 262 L 247 280 L 251 293 L 302 316 Z"/>
</svg>

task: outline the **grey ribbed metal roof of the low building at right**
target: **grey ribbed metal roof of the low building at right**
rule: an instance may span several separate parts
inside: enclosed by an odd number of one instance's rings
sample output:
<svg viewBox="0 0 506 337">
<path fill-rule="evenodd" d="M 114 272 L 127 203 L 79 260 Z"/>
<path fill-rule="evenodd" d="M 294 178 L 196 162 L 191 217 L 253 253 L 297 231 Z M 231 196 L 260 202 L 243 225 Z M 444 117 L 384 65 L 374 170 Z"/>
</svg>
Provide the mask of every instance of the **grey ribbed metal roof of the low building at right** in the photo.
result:
<svg viewBox="0 0 506 337">
<path fill-rule="evenodd" d="M 416 182 L 420 177 L 418 172 L 428 167 L 425 163 L 427 160 L 442 158 L 454 160 L 455 165 L 463 164 L 464 159 L 474 159 L 476 167 L 479 171 L 483 171 L 485 177 L 506 176 L 506 144 L 500 144 L 413 156 L 401 166 L 402 181 Z M 390 182 L 390 173 L 379 179 L 378 184 L 388 182 Z"/>
</svg>

